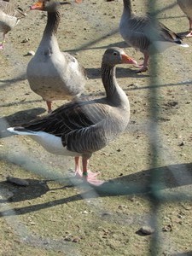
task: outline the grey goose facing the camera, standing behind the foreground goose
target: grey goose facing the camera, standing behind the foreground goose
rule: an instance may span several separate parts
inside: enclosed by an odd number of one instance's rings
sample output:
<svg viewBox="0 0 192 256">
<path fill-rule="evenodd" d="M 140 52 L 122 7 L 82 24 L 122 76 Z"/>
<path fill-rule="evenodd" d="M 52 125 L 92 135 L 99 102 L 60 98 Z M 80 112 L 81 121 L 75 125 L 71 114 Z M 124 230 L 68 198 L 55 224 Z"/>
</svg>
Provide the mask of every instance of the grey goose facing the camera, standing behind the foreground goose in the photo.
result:
<svg viewBox="0 0 192 256">
<path fill-rule="evenodd" d="M 49 113 L 52 101 L 80 96 L 86 80 L 84 68 L 73 55 L 59 49 L 56 33 L 61 20 L 60 7 L 61 4 L 54 0 L 39 0 L 31 6 L 32 10 L 46 11 L 48 18 L 43 38 L 27 65 L 26 75 L 31 89 L 47 102 Z"/>
</svg>

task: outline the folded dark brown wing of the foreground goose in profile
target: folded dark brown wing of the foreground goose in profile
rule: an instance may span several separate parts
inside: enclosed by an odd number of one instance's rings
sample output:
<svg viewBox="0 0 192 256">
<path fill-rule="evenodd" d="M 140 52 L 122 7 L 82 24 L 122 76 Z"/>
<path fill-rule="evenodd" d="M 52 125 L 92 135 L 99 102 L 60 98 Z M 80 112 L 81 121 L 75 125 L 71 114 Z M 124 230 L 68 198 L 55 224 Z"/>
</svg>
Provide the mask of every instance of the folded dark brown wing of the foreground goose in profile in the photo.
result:
<svg viewBox="0 0 192 256">
<path fill-rule="evenodd" d="M 44 131 L 61 137 L 68 150 L 91 154 L 110 140 L 113 133 L 109 125 L 111 108 L 102 100 L 71 102 L 22 127 L 26 131 Z"/>
</svg>

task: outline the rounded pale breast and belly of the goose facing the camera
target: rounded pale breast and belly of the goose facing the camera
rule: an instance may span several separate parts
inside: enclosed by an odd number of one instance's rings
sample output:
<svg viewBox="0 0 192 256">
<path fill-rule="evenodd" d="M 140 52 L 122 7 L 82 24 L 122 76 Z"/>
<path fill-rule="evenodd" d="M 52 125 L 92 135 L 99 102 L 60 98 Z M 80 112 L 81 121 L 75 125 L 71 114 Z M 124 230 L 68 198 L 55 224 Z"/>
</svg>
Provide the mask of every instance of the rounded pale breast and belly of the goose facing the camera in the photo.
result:
<svg viewBox="0 0 192 256">
<path fill-rule="evenodd" d="M 84 90 L 82 73 L 79 62 L 64 52 L 34 55 L 26 70 L 31 89 L 46 101 L 78 96 Z"/>
</svg>

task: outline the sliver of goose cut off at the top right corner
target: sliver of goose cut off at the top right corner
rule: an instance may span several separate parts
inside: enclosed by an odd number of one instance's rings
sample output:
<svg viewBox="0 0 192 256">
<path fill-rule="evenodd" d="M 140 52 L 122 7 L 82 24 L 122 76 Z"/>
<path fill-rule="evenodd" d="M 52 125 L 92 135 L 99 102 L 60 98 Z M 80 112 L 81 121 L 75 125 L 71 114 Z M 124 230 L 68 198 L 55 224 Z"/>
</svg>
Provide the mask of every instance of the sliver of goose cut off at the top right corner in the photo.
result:
<svg viewBox="0 0 192 256">
<path fill-rule="evenodd" d="M 177 4 L 189 20 L 189 33 L 186 37 L 192 37 L 192 0 L 177 0 Z"/>
</svg>

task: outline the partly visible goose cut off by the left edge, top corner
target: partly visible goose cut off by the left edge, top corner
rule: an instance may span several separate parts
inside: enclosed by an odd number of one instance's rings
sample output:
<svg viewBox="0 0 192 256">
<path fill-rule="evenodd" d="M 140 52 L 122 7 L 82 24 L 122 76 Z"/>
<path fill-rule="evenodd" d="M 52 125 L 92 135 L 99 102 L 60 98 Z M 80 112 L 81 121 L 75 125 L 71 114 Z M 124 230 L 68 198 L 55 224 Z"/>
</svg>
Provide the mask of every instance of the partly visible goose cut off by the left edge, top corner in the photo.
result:
<svg viewBox="0 0 192 256">
<path fill-rule="evenodd" d="M 3 40 L 0 42 L 0 49 L 4 49 L 5 36 L 12 30 L 20 21 L 25 18 L 23 10 L 15 8 L 15 5 L 9 1 L 0 0 L 0 32 L 3 32 Z"/>
</svg>

